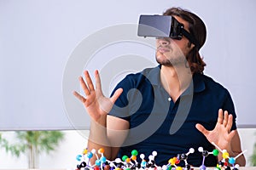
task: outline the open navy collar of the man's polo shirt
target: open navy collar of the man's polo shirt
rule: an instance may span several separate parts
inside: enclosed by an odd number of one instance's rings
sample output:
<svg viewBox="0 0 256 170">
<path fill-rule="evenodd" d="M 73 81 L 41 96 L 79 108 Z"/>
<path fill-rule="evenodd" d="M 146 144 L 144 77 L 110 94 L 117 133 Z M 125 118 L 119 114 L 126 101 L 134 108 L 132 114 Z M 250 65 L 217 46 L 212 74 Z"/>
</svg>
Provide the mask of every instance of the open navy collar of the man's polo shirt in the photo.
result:
<svg viewBox="0 0 256 170">
<path fill-rule="evenodd" d="M 151 71 L 149 71 L 148 80 L 151 82 L 152 85 L 162 87 L 162 85 L 160 84 L 160 68 L 161 66 L 158 65 L 154 67 Z M 195 73 L 193 75 L 193 86 L 194 86 L 194 93 L 200 93 L 206 88 L 205 82 L 203 81 L 201 74 Z M 192 88 L 192 83 L 183 94 L 189 94 L 189 89 L 191 88 Z"/>
</svg>

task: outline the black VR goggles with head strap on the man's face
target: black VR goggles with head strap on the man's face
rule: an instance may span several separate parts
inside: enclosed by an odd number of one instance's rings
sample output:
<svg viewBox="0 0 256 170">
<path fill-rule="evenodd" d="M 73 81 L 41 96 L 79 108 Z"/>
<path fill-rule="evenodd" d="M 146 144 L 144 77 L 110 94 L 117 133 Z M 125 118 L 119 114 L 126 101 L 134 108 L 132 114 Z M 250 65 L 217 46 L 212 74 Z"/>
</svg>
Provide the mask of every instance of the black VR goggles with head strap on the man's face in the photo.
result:
<svg viewBox="0 0 256 170">
<path fill-rule="evenodd" d="M 199 47 L 195 37 L 184 29 L 183 24 L 170 15 L 141 15 L 137 35 L 140 37 L 171 37 L 177 40 L 184 36 L 194 43 L 195 47 Z"/>
</svg>

